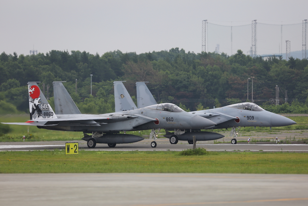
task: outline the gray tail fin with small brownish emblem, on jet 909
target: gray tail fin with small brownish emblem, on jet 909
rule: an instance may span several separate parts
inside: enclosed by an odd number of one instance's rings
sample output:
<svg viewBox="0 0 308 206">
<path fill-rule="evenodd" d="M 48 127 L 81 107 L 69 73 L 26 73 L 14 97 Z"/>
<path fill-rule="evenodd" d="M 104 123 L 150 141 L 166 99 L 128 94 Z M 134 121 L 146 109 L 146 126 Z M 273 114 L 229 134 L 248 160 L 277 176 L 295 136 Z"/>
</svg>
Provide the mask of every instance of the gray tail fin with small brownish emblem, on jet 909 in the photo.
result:
<svg viewBox="0 0 308 206">
<path fill-rule="evenodd" d="M 126 81 L 113 82 L 115 90 L 115 112 L 137 109 L 123 82 Z"/>
</svg>

